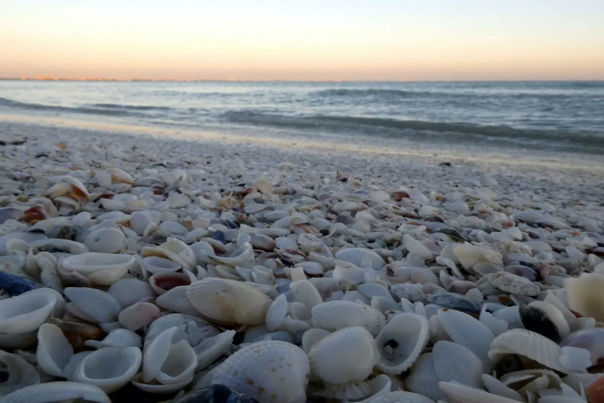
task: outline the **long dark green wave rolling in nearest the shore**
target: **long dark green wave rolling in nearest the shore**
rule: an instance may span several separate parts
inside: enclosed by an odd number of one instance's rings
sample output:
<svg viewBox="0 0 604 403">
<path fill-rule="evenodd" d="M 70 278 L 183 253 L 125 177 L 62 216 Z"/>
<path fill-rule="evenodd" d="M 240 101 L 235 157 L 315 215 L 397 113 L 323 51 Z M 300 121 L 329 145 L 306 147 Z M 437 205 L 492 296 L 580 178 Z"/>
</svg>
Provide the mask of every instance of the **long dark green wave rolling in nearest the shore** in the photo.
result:
<svg viewBox="0 0 604 403">
<path fill-rule="evenodd" d="M 231 123 L 272 126 L 289 129 L 314 129 L 326 132 L 346 132 L 385 137 L 417 137 L 454 134 L 448 140 L 536 140 L 558 145 L 604 147 L 604 136 L 596 132 L 556 132 L 527 130 L 510 126 L 487 126 L 469 123 L 444 123 L 393 118 L 334 115 L 280 115 L 258 110 L 228 111 L 223 118 Z"/>
</svg>

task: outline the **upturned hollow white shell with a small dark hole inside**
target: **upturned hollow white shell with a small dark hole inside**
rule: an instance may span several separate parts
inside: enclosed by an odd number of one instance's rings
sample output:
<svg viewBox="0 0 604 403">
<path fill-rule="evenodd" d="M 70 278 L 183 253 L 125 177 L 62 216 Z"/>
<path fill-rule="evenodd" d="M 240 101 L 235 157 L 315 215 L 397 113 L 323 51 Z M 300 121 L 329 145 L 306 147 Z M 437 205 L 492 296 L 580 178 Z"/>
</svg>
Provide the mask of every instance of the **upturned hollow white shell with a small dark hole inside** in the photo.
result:
<svg viewBox="0 0 604 403">
<path fill-rule="evenodd" d="M 421 315 L 394 315 L 376 337 L 377 366 L 388 375 L 405 372 L 428 343 L 428 321 Z"/>
</svg>

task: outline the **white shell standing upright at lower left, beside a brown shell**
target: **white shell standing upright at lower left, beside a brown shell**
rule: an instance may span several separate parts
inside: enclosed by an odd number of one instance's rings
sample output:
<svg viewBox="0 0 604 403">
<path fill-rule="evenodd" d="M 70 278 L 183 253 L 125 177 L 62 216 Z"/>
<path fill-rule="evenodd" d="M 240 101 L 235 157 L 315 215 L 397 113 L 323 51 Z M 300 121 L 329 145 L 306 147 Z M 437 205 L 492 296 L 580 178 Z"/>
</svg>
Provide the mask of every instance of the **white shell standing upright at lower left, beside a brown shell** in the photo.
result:
<svg viewBox="0 0 604 403">
<path fill-rule="evenodd" d="M 37 333 L 37 363 L 46 373 L 64 377 L 63 369 L 74 354 L 74 349 L 58 326 L 44 323 Z"/>
</svg>

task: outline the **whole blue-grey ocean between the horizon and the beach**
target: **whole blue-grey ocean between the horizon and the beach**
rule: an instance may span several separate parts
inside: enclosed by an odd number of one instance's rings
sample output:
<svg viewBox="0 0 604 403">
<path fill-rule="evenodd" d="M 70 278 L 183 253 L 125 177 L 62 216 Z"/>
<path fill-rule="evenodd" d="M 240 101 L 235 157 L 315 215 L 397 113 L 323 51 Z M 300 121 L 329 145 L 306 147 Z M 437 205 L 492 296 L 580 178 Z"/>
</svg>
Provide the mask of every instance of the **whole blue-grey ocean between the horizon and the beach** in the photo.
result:
<svg viewBox="0 0 604 403">
<path fill-rule="evenodd" d="M 0 81 L 0 114 L 604 154 L 604 82 Z"/>
</svg>

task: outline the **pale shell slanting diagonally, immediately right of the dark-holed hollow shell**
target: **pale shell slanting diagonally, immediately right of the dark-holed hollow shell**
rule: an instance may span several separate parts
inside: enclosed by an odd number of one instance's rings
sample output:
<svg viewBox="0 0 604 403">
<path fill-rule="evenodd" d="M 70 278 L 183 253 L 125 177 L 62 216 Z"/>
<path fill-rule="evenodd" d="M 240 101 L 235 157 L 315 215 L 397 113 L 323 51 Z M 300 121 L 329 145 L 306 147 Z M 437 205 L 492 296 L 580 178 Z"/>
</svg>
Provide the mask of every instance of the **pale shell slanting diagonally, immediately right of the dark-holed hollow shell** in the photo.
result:
<svg viewBox="0 0 604 403">
<path fill-rule="evenodd" d="M 442 309 L 437 313 L 437 317 L 451 340 L 467 347 L 478 356 L 483 362 L 485 372 L 490 372 L 489 349 L 495 336 L 489 327 L 470 315 L 453 309 Z"/>
</svg>

